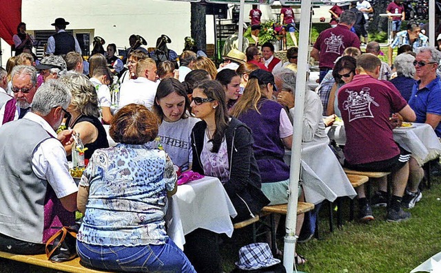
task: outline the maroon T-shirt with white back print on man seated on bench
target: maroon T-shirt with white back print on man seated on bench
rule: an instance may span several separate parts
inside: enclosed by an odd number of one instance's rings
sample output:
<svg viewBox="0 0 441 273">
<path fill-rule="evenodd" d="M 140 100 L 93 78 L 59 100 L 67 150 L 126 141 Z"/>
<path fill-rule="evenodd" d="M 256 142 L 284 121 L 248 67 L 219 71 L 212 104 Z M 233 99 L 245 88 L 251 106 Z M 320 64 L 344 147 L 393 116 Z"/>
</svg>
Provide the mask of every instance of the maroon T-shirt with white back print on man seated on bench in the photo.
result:
<svg viewBox="0 0 441 273">
<path fill-rule="evenodd" d="M 338 89 L 338 108 L 345 122 L 345 156 L 349 164 L 389 160 L 400 153 L 393 140 L 391 113 L 407 105 L 402 96 L 380 80 L 356 75 Z"/>
</svg>

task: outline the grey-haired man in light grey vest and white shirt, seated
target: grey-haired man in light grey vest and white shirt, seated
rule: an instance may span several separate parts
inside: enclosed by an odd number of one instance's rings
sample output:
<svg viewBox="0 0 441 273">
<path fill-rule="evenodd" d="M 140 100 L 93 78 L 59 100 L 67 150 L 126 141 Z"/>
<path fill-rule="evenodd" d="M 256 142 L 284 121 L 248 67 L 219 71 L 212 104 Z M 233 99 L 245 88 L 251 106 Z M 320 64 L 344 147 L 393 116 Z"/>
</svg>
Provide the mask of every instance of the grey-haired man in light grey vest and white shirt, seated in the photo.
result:
<svg viewBox="0 0 441 273">
<path fill-rule="evenodd" d="M 0 128 L 0 251 L 44 253 L 57 227 L 74 223 L 78 188 L 63 148 L 72 131 L 54 131 L 70 100 L 70 91 L 50 80 L 34 96 L 31 112 Z"/>
</svg>

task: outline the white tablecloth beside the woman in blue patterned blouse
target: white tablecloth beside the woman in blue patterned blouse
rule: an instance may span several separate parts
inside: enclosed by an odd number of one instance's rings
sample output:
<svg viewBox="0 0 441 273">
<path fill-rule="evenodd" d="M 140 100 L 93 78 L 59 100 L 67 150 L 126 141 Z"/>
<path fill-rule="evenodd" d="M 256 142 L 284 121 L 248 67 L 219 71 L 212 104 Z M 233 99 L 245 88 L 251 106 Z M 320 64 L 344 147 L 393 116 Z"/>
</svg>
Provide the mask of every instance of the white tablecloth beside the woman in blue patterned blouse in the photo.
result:
<svg viewBox="0 0 441 273">
<path fill-rule="evenodd" d="M 237 212 L 227 192 L 216 177 L 205 176 L 178 186 L 178 191 L 169 198 L 165 219 L 167 234 L 179 248 L 183 249 L 185 234 L 205 228 L 216 233 L 233 234 L 230 217 Z"/>
</svg>

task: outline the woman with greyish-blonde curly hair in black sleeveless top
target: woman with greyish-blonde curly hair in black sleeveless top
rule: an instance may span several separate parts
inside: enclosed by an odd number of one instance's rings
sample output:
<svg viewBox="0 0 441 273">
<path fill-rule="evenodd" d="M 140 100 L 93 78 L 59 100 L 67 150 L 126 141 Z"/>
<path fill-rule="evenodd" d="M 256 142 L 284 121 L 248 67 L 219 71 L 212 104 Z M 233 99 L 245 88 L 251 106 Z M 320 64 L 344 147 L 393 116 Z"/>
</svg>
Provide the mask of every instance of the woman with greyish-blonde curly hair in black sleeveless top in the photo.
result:
<svg viewBox="0 0 441 273">
<path fill-rule="evenodd" d="M 66 125 L 80 134 L 81 141 L 88 148 L 84 158 L 89 160 L 96 149 L 109 147 L 107 133 L 99 120 L 98 96 L 95 87 L 87 76 L 75 72 L 68 72 L 61 77 L 72 94 L 72 100 L 68 107 Z M 72 160 L 72 145 L 65 146 L 68 160 Z"/>
</svg>

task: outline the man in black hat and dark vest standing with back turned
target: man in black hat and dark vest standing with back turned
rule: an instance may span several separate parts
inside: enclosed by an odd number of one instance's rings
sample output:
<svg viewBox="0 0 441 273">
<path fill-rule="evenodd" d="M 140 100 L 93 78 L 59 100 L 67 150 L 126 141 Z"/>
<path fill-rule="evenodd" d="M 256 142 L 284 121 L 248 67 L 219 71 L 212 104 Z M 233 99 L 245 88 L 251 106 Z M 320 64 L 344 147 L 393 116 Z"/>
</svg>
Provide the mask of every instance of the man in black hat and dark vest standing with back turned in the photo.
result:
<svg viewBox="0 0 441 273">
<path fill-rule="evenodd" d="M 76 38 L 65 32 L 66 25 L 69 25 L 69 22 L 66 22 L 63 18 L 57 18 L 55 23 L 51 25 L 55 26 L 57 33 L 49 37 L 46 54 L 65 55 L 71 51 L 81 54 L 81 47 Z"/>
</svg>

